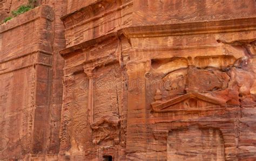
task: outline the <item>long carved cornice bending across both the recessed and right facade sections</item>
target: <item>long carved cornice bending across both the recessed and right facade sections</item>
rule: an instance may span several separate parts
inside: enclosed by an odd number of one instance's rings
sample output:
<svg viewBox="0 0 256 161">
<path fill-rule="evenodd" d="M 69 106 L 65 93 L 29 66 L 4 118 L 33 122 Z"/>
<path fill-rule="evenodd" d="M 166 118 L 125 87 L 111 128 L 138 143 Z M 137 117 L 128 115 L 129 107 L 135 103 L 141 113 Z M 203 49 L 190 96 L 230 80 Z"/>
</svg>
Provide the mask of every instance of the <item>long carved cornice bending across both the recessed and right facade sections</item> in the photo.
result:
<svg viewBox="0 0 256 161">
<path fill-rule="evenodd" d="M 120 29 L 117 32 L 112 32 L 95 39 L 84 41 L 78 45 L 68 47 L 65 50 L 60 51 L 60 54 L 62 57 L 65 57 L 69 53 L 82 50 L 111 37 L 120 37 L 121 35 L 124 35 L 127 39 L 131 39 L 139 37 L 181 36 L 186 34 L 241 32 L 250 30 L 256 30 L 256 17 L 215 20 L 210 22 L 203 21 L 153 26 L 130 26 L 125 29 Z"/>
</svg>

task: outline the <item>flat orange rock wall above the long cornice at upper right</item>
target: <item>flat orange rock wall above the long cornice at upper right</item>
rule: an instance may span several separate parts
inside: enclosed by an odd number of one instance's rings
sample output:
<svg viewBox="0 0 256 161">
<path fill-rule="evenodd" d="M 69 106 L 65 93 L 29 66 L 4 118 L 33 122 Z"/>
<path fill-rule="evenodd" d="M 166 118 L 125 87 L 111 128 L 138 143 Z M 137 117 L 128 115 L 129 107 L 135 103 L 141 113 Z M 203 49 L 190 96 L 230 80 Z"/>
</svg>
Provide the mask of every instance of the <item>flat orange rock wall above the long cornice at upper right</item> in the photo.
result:
<svg viewBox="0 0 256 161">
<path fill-rule="evenodd" d="M 248 1 L 134 1 L 134 25 L 189 23 L 255 17 L 255 2 Z"/>
</svg>

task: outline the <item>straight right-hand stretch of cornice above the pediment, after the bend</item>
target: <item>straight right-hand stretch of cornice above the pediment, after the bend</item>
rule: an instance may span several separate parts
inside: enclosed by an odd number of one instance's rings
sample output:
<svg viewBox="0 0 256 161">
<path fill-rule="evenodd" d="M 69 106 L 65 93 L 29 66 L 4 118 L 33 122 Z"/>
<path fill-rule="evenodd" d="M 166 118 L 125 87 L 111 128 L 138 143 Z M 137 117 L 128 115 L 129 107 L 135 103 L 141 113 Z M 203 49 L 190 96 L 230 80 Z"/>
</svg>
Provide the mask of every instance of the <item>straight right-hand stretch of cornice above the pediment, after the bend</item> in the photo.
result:
<svg viewBox="0 0 256 161">
<path fill-rule="evenodd" d="M 179 24 L 131 26 L 123 29 L 128 38 L 256 30 L 256 17 L 188 22 Z"/>
</svg>

